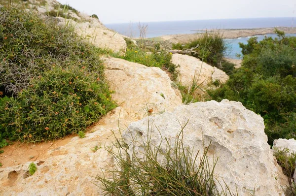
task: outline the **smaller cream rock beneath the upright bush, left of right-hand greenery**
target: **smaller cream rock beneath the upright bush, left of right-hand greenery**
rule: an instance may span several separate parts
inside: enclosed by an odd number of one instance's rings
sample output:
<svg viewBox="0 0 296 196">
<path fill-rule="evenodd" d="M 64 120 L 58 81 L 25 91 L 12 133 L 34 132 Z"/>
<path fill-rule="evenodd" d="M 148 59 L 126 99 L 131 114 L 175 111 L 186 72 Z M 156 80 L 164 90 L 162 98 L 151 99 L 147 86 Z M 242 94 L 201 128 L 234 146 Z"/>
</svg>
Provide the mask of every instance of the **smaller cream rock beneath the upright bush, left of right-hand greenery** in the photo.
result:
<svg viewBox="0 0 296 196">
<path fill-rule="evenodd" d="M 224 71 L 188 55 L 173 54 L 172 63 L 180 65 L 178 67 L 180 71 L 179 81 L 184 86 L 191 86 L 194 76 L 197 84 L 202 84 L 201 86 L 204 88 L 207 88 L 211 82 L 216 80 L 225 83 L 229 79 Z"/>
</svg>

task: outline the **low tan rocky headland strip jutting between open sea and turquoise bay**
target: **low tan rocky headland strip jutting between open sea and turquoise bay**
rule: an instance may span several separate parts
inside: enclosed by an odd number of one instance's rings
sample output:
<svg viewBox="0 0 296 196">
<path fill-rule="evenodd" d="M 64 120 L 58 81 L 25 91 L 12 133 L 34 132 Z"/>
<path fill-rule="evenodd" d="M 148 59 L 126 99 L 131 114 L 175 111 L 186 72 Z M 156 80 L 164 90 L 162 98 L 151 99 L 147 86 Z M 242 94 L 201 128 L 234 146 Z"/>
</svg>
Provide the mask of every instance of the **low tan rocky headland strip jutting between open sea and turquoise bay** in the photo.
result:
<svg viewBox="0 0 296 196">
<path fill-rule="evenodd" d="M 240 37 L 249 37 L 256 35 L 264 35 L 274 33 L 275 28 L 255 28 L 255 29 L 222 29 L 222 30 L 198 30 L 208 32 L 221 32 L 224 39 L 237 39 Z M 277 27 L 278 30 L 284 31 L 285 33 L 296 33 L 296 27 Z M 196 30 L 197 31 L 197 30 Z M 171 42 L 171 43 L 186 43 L 192 39 L 195 39 L 202 33 L 189 33 L 189 34 L 171 34 L 162 35 L 158 37 L 146 38 L 145 40 L 155 42 Z"/>
</svg>

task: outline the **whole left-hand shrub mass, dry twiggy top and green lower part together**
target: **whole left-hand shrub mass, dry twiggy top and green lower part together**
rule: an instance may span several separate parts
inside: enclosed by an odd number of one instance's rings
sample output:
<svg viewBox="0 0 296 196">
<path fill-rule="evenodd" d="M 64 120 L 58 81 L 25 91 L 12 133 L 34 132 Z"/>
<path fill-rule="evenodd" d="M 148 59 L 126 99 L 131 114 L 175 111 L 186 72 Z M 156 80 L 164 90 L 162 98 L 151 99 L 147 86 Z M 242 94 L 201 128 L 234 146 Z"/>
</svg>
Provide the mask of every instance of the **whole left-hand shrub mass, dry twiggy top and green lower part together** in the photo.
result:
<svg viewBox="0 0 296 196">
<path fill-rule="evenodd" d="M 114 107 L 98 49 L 50 18 L 0 8 L 0 147 L 77 133 Z"/>
</svg>

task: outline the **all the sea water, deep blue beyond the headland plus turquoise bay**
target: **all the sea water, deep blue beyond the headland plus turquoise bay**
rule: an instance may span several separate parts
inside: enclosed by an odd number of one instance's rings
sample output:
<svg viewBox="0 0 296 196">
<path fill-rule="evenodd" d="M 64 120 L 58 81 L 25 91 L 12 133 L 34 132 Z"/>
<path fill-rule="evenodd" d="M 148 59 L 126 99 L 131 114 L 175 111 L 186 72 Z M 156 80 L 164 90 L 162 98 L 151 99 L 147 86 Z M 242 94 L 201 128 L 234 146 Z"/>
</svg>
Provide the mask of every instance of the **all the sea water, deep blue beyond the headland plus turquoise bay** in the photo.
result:
<svg viewBox="0 0 296 196">
<path fill-rule="evenodd" d="M 188 20 L 188 21 L 167 21 L 167 22 L 146 22 L 140 23 L 141 26 L 147 25 L 146 37 L 157 37 L 169 34 L 190 34 L 198 33 L 206 29 L 254 29 L 254 28 L 274 28 L 274 27 L 295 27 L 296 19 L 293 17 L 282 18 L 249 18 L 249 19 L 219 19 L 219 20 Z M 139 23 L 120 23 L 105 24 L 109 29 L 126 36 L 139 37 Z M 296 36 L 296 34 L 287 34 Z M 265 35 L 258 36 L 262 40 Z M 275 34 L 266 36 L 276 37 Z M 240 59 L 237 54 L 241 54 L 238 43 L 247 43 L 250 37 L 240 37 L 237 39 L 225 39 L 228 58 Z"/>
</svg>

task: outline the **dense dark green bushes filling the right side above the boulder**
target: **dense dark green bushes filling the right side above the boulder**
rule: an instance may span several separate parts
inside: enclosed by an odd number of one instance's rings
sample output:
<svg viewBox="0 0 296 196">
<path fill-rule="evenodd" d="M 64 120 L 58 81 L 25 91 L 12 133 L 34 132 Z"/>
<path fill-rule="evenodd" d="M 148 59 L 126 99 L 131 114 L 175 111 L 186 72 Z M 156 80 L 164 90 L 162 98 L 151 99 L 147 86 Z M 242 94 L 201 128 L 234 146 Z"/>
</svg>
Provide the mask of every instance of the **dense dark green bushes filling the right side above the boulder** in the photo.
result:
<svg viewBox="0 0 296 196">
<path fill-rule="evenodd" d="M 277 38 L 250 38 L 240 44 L 242 67 L 225 85 L 209 92 L 212 98 L 241 101 L 264 118 L 272 144 L 278 138 L 296 138 L 296 37 L 279 32 Z"/>
</svg>

